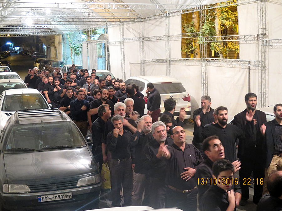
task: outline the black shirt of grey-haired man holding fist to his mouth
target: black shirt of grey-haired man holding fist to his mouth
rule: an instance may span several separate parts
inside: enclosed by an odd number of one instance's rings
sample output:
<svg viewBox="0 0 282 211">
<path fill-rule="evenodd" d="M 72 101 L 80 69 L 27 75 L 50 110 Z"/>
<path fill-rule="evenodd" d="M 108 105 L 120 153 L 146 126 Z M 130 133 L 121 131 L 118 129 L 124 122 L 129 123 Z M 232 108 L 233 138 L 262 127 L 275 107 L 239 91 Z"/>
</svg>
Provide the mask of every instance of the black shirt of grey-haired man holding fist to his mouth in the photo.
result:
<svg viewBox="0 0 282 211">
<path fill-rule="evenodd" d="M 112 159 L 126 159 L 131 157 L 130 139 L 132 133 L 127 130 L 123 130 L 123 135 L 118 134 L 118 138 L 113 136 L 110 132 L 107 135 L 107 147 L 111 152 Z"/>
</svg>

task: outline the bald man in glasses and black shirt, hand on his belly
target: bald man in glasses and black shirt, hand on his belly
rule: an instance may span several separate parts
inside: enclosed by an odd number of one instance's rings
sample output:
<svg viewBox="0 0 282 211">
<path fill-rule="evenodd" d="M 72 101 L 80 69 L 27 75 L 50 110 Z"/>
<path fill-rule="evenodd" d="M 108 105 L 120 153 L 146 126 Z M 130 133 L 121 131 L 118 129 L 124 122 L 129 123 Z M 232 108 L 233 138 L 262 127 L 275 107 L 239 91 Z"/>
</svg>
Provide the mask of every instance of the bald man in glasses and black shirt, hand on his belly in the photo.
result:
<svg viewBox="0 0 282 211">
<path fill-rule="evenodd" d="M 200 151 L 185 143 L 185 130 L 180 126 L 172 129 L 173 144 L 164 148 L 163 156 L 168 159 L 166 167 L 167 204 L 182 210 L 197 210 L 196 173 L 203 161 Z"/>
</svg>

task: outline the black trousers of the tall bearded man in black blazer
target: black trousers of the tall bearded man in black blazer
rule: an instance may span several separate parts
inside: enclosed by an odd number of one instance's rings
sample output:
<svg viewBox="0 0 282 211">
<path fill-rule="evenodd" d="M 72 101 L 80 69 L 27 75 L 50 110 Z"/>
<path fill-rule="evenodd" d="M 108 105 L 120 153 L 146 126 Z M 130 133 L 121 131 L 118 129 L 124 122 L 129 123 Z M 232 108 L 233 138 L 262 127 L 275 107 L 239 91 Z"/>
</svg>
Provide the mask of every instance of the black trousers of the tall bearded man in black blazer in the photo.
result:
<svg viewBox="0 0 282 211">
<path fill-rule="evenodd" d="M 248 178 L 250 177 L 252 171 L 253 171 L 253 179 L 251 183 L 254 182 L 254 188 L 253 188 L 253 202 L 259 203 L 260 198 L 262 197 L 262 192 L 264 189 L 263 185 L 257 184 L 257 178 L 264 178 L 264 167 L 261 164 L 259 160 L 252 161 L 252 160 L 241 160 L 241 169 L 239 170 L 239 181 L 240 181 L 240 187 L 242 190 L 242 200 L 248 200 L 249 198 L 249 186 Z M 243 184 L 245 183 L 245 184 Z"/>
</svg>

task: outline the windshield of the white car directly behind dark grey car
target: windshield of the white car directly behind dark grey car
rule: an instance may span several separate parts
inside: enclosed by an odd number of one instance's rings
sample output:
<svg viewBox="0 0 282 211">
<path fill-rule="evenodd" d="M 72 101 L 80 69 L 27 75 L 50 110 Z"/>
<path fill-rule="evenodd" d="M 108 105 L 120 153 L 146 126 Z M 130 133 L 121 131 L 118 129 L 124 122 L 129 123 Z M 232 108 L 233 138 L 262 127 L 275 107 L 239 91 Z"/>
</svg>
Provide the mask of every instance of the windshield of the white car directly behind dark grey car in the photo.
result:
<svg viewBox="0 0 282 211">
<path fill-rule="evenodd" d="M 2 111 L 18 111 L 28 109 L 47 109 L 49 106 L 41 94 L 6 95 Z"/>
</svg>

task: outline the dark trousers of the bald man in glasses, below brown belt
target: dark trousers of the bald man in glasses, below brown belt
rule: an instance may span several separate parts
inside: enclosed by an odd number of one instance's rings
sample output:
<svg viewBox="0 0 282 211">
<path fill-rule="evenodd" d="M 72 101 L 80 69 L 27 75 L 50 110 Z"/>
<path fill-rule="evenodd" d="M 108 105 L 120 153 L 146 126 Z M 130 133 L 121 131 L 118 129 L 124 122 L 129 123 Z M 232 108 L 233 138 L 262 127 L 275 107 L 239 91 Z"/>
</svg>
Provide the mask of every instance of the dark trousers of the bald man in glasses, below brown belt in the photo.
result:
<svg viewBox="0 0 282 211">
<path fill-rule="evenodd" d="M 170 188 L 167 188 L 165 207 L 177 207 L 183 211 L 196 211 L 197 193 L 197 188 L 195 188 L 189 193 L 180 193 Z"/>
</svg>

